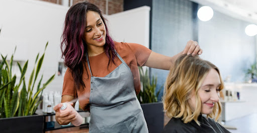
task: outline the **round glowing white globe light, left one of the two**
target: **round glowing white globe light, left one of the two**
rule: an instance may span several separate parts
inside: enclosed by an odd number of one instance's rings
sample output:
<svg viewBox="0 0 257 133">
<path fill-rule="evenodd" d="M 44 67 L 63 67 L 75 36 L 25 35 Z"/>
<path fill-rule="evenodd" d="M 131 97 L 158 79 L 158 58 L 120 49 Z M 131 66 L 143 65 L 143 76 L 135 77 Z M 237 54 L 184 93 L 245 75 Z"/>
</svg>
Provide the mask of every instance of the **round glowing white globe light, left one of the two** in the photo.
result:
<svg viewBox="0 0 257 133">
<path fill-rule="evenodd" d="M 197 12 L 197 17 L 201 21 L 209 21 L 213 17 L 213 10 L 211 7 L 203 6 Z"/>
</svg>

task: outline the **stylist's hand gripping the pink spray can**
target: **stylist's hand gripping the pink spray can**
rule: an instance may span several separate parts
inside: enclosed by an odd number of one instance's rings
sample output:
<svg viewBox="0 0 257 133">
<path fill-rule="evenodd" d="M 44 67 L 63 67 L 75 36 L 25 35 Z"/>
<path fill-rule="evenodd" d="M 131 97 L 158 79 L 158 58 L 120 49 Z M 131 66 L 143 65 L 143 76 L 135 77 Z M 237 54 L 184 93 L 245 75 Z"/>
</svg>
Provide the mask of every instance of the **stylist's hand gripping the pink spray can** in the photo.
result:
<svg viewBox="0 0 257 133">
<path fill-rule="evenodd" d="M 72 102 L 67 102 L 70 105 L 73 105 Z M 54 110 L 55 110 L 55 119 L 56 121 L 61 124 L 61 125 L 65 125 L 65 124 L 69 124 L 71 121 L 76 119 L 76 113 L 72 112 L 72 111 L 67 111 L 67 112 L 60 112 L 60 108 L 62 107 L 62 103 L 57 104 L 56 106 L 54 106 Z"/>
</svg>

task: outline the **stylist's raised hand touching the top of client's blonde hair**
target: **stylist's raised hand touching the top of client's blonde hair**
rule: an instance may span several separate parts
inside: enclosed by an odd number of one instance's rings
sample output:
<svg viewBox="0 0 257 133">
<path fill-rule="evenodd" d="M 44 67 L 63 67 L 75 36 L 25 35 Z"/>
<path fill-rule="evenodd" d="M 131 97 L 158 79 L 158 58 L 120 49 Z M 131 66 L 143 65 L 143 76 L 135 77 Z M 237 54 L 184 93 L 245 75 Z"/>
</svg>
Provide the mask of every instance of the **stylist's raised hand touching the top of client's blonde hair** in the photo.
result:
<svg viewBox="0 0 257 133">
<path fill-rule="evenodd" d="M 200 46 L 198 45 L 198 43 L 196 41 L 190 40 L 187 42 L 187 45 L 183 51 L 183 54 L 192 54 L 193 56 L 198 54 L 202 54 L 203 50 L 200 48 Z"/>
</svg>

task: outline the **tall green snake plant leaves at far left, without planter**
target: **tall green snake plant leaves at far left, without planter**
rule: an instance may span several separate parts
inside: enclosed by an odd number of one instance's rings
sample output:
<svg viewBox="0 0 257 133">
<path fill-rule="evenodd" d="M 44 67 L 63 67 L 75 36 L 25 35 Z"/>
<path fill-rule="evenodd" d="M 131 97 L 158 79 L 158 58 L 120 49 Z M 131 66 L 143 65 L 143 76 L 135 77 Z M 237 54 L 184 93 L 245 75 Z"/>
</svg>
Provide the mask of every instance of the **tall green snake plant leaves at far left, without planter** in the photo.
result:
<svg viewBox="0 0 257 133">
<path fill-rule="evenodd" d="M 45 51 L 48 42 L 45 46 Z M 16 48 L 15 48 L 16 51 Z M 18 63 L 19 69 L 21 71 L 21 79 L 16 83 L 16 75 L 12 75 L 13 58 L 11 57 L 10 62 L 6 60 L 7 56 L 4 57 L 2 54 L 2 61 L 0 62 L 0 117 L 14 117 L 14 116 L 27 116 L 33 115 L 42 102 L 40 97 L 42 96 L 43 90 L 49 85 L 49 83 L 54 79 L 55 74 L 52 75 L 43 85 L 41 81 L 43 79 L 43 74 L 36 84 L 37 77 L 44 60 L 45 51 L 43 55 L 39 58 L 39 53 L 36 57 L 34 68 L 31 72 L 28 85 L 25 82 L 25 74 L 28 67 L 28 60 L 23 67 Z M 15 53 L 15 52 L 14 52 Z M 39 60 L 38 60 L 39 58 Z M 19 91 L 20 86 L 22 86 Z M 33 94 L 33 90 L 37 89 L 36 93 Z"/>
</svg>

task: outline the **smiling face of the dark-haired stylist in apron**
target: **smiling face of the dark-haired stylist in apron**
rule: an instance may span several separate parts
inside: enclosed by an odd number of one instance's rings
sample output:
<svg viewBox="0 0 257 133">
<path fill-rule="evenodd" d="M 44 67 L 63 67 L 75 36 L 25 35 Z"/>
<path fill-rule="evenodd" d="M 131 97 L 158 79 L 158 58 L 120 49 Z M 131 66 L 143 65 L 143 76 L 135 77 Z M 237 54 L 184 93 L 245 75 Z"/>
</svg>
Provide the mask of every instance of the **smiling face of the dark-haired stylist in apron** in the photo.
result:
<svg viewBox="0 0 257 133">
<path fill-rule="evenodd" d="M 84 40 L 88 47 L 103 47 L 106 30 L 100 15 L 93 11 L 86 13 L 86 29 Z"/>
</svg>

